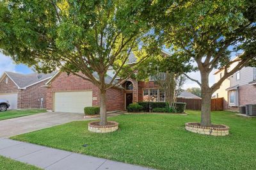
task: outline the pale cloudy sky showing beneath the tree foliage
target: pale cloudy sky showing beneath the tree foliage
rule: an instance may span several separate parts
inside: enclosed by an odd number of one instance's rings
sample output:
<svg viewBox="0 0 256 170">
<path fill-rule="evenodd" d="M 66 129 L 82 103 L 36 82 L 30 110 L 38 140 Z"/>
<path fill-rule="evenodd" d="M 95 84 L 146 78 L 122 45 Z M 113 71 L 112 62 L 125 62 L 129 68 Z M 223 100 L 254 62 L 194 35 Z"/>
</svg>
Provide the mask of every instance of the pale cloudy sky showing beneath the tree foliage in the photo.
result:
<svg viewBox="0 0 256 170">
<path fill-rule="evenodd" d="M 26 65 L 15 65 L 15 63 L 13 63 L 13 61 L 10 57 L 4 56 L 4 54 L 0 53 L 0 75 L 2 75 L 4 71 L 17 72 L 17 73 L 32 73 L 33 72 L 31 70 L 31 68 L 28 68 L 28 66 L 26 66 Z M 188 73 L 188 75 L 190 77 L 192 77 L 193 79 L 197 79 L 198 81 L 200 81 L 200 73 L 199 72 L 191 72 L 191 73 Z M 209 82 L 210 82 L 210 84 L 214 83 L 213 73 L 210 76 Z M 196 82 L 187 80 L 185 82 L 183 88 L 187 89 L 187 88 L 193 88 L 193 87 L 199 87 L 199 86 L 198 86 L 198 84 L 196 84 Z"/>
</svg>

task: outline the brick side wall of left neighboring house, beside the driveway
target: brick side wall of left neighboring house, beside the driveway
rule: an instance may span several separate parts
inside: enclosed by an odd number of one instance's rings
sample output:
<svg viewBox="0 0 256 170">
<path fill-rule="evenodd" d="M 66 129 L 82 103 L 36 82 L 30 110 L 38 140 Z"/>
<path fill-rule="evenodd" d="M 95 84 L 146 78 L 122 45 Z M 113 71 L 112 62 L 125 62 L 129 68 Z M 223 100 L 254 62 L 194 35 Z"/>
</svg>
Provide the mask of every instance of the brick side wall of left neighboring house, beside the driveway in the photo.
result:
<svg viewBox="0 0 256 170">
<path fill-rule="evenodd" d="M 42 108 L 46 108 L 47 89 L 42 87 L 45 82 L 47 81 L 39 82 L 26 89 L 20 89 L 18 94 L 18 108 L 40 108 L 40 98 L 44 98 Z"/>
</svg>

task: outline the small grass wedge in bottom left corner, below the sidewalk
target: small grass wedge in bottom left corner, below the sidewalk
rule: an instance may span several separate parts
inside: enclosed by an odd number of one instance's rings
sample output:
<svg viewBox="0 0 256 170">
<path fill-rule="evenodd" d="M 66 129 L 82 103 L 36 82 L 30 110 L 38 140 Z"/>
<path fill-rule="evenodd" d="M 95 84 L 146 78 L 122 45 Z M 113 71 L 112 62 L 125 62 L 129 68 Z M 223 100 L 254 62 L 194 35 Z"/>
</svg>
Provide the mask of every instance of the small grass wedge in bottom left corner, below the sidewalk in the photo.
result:
<svg viewBox="0 0 256 170">
<path fill-rule="evenodd" d="M 31 166 L 29 164 L 24 164 L 22 162 L 19 162 L 17 160 L 12 160 L 10 158 L 2 157 L 0 156 L 0 169 L 8 169 L 8 170 L 40 170 L 40 168 Z"/>
</svg>

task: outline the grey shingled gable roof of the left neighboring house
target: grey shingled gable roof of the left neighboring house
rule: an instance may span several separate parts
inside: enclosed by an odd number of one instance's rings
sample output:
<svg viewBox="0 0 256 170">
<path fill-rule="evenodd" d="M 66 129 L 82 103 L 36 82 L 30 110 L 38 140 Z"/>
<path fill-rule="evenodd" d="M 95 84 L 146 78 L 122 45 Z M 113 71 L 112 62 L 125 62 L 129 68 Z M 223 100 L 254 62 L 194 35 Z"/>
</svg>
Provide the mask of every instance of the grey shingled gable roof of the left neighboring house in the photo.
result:
<svg viewBox="0 0 256 170">
<path fill-rule="evenodd" d="M 50 79 L 52 75 L 54 75 L 54 73 L 55 72 L 47 73 L 47 74 L 44 74 L 44 73 L 21 74 L 21 73 L 13 73 L 13 72 L 4 72 L 4 74 L 6 74 L 19 89 L 26 89 L 29 86 L 33 86 L 34 84 Z"/>
</svg>

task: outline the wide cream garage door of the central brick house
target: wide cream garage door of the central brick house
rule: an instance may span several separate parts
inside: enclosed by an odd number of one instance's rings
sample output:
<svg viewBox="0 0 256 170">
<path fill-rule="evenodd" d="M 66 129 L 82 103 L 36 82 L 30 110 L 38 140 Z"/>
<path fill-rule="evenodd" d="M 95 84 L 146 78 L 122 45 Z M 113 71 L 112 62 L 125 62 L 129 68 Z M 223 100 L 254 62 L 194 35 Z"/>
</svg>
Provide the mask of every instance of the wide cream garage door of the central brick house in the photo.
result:
<svg viewBox="0 0 256 170">
<path fill-rule="evenodd" d="M 55 112 L 84 112 L 84 107 L 92 106 L 92 91 L 56 92 Z"/>
</svg>

